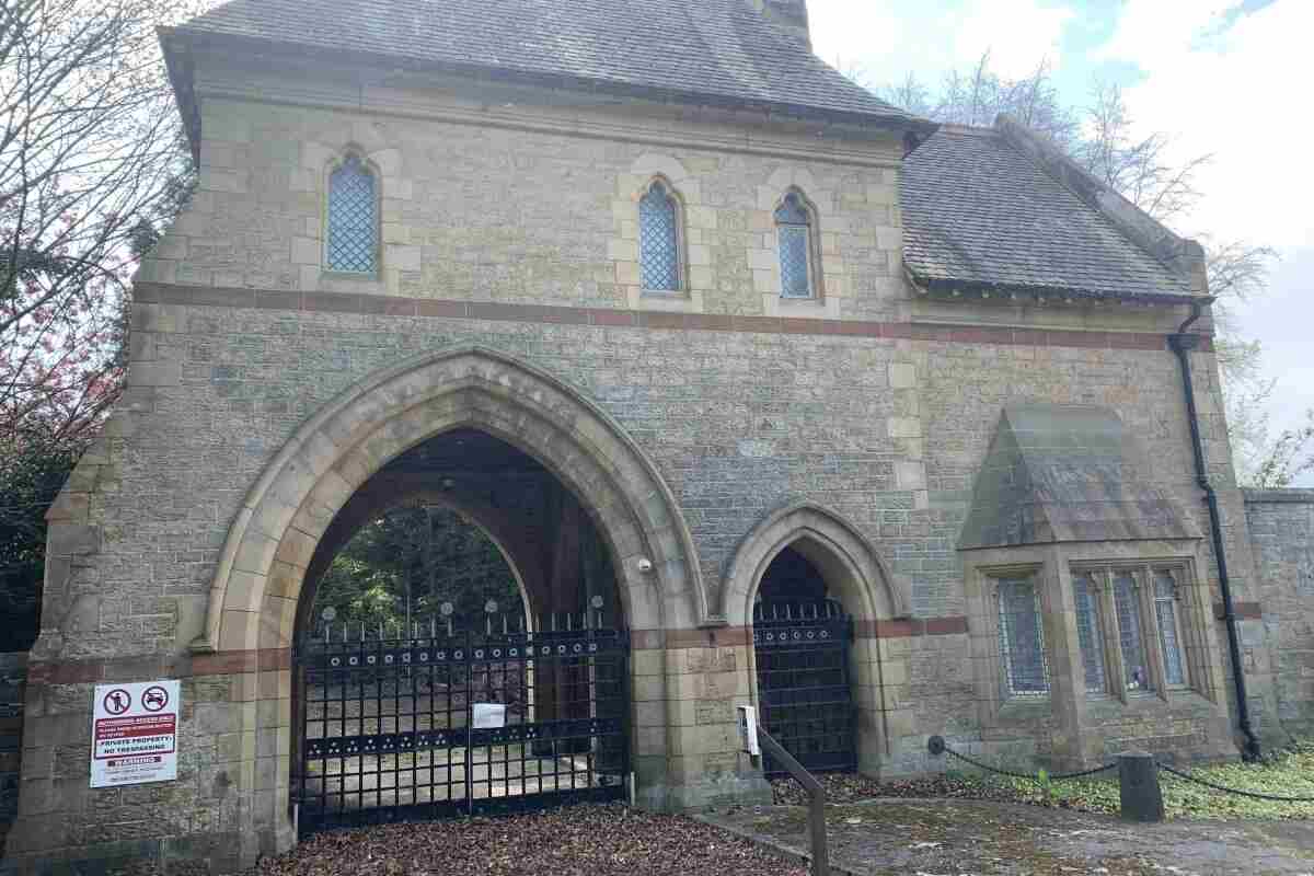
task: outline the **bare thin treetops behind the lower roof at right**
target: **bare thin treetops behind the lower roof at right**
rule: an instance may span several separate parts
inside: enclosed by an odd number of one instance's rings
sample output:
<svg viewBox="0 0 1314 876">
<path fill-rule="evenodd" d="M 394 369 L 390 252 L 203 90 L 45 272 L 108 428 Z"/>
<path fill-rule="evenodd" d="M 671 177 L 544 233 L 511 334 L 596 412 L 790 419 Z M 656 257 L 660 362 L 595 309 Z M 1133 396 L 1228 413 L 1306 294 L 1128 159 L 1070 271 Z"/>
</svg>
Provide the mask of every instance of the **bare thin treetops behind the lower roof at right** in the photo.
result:
<svg viewBox="0 0 1314 876">
<path fill-rule="evenodd" d="M 1164 223 L 1181 221 L 1202 196 L 1196 180 L 1209 155 L 1176 160 L 1169 135 L 1138 134 L 1117 85 L 1095 83 L 1085 108 L 1064 104 L 1043 60 L 1031 75 L 1010 80 L 991 71 L 986 53 L 971 68 L 947 74 L 938 91 L 912 74 L 875 91 L 941 122 L 989 125 L 999 113 L 1008 113 L 1049 135 L 1087 172 Z M 1210 293 L 1218 297 L 1214 347 L 1238 479 L 1250 486 L 1288 486 L 1314 470 L 1314 429 L 1271 435 L 1265 405 L 1273 382 L 1260 377 L 1259 341 L 1246 339 L 1235 319 L 1238 303 L 1264 292 L 1277 252 L 1244 240 L 1197 236 L 1205 247 Z M 1314 423 L 1314 411 L 1309 416 Z"/>
</svg>

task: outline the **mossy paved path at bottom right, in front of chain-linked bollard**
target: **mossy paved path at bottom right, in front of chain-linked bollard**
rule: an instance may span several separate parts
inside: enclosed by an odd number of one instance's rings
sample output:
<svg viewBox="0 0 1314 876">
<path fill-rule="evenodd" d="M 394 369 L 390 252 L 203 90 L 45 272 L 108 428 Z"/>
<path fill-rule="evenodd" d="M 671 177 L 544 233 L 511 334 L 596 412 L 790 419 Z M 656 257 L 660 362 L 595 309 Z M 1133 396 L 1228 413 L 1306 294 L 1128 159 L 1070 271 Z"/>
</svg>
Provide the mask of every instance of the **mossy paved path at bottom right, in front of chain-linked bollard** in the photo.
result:
<svg viewBox="0 0 1314 876">
<path fill-rule="evenodd" d="M 703 818 L 805 850 L 807 810 L 762 806 Z M 876 800 L 828 806 L 841 872 L 907 876 L 1314 876 L 1314 821 L 1173 821 L 1022 804 Z"/>
</svg>

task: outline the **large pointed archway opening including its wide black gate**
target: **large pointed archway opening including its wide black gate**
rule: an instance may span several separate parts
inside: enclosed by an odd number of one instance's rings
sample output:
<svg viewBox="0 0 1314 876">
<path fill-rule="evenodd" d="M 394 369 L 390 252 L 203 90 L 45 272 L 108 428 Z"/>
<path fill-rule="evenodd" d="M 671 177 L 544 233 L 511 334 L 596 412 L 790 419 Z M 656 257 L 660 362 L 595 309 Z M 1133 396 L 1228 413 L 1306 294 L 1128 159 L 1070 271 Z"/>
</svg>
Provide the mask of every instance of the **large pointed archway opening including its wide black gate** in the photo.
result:
<svg viewBox="0 0 1314 876">
<path fill-rule="evenodd" d="M 302 833 L 622 797 L 620 611 L 600 536 L 533 457 L 463 428 L 392 460 L 307 563 Z"/>
</svg>

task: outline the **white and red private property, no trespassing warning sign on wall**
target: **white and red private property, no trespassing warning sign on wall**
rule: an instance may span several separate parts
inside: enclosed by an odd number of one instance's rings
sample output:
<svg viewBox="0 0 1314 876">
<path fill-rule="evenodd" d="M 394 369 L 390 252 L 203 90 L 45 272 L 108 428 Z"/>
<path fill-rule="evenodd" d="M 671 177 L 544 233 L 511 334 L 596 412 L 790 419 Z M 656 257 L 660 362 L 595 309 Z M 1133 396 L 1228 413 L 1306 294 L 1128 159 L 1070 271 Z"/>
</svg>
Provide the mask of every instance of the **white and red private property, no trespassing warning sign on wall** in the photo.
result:
<svg viewBox="0 0 1314 876">
<path fill-rule="evenodd" d="M 177 779 L 177 682 L 97 684 L 91 787 Z"/>
</svg>

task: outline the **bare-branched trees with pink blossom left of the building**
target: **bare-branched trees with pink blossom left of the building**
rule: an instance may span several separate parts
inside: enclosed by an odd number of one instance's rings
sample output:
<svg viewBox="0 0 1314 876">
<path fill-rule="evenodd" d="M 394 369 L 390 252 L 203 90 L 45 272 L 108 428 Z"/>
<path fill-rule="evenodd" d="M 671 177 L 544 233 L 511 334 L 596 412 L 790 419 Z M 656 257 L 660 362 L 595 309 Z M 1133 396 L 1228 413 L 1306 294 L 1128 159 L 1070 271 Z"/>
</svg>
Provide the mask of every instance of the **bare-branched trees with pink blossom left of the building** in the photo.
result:
<svg viewBox="0 0 1314 876">
<path fill-rule="evenodd" d="M 206 0 L 0 0 L 0 600 L 34 636 L 45 512 L 118 398 L 130 278 L 193 168 L 155 26 Z"/>
</svg>

